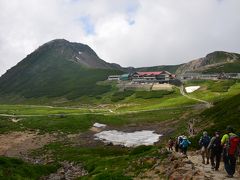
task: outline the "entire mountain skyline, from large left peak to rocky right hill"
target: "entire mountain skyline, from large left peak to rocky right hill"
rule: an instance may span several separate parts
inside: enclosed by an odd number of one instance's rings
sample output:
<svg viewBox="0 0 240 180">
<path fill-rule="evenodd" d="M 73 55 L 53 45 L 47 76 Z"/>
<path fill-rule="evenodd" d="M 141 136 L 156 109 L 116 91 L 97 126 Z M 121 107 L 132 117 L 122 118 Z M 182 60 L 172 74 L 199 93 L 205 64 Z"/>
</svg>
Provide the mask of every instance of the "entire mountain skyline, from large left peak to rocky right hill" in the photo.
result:
<svg viewBox="0 0 240 180">
<path fill-rule="evenodd" d="M 217 72 L 227 66 L 231 71 L 232 65 L 236 71 L 240 69 L 240 54 L 216 51 L 180 65 L 124 68 L 105 62 L 88 45 L 55 39 L 37 48 L 0 77 L 0 101 L 1 97 L 12 95 L 67 99 L 98 96 L 109 92 L 111 86 L 98 85 L 97 82 L 113 74 L 133 71 Z"/>
</svg>

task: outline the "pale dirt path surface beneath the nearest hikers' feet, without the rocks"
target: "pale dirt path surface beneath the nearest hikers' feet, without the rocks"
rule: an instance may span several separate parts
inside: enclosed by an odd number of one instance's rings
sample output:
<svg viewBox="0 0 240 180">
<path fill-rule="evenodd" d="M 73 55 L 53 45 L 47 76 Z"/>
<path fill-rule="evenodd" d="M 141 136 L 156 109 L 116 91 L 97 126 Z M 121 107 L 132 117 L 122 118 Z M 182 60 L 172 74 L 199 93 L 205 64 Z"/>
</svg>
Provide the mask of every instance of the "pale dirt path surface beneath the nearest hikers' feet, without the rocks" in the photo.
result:
<svg viewBox="0 0 240 180">
<path fill-rule="evenodd" d="M 204 174 L 204 179 L 211 179 L 211 180 L 225 180 L 225 179 L 240 179 L 239 172 L 236 172 L 234 174 L 234 178 L 227 178 L 226 171 L 224 170 L 224 164 L 221 162 L 219 171 L 214 171 L 211 169 L 211 165 L 208 164 L 202 164 L 202 158 L 200 155 L 196 155 L 192 153 L 188 156 L 188 159 L 193 163 L 194 168 L 202 172 L 201 174 Z"/>
</svg>

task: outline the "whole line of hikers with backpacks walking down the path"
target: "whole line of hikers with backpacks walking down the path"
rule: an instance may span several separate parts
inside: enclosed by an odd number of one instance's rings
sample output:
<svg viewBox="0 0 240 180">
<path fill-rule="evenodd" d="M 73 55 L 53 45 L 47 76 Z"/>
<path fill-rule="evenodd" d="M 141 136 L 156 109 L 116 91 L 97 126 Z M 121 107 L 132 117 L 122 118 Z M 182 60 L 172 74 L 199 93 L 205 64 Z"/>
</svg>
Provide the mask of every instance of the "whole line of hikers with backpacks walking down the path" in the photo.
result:
<svg viewBox="0 0 240 180">
<path fill-rule="evenodd" d="M 181 152 L 187 155 L 187 150 L 191 142 L 186 136 L 178 136 L 175 140 L 170 138 L 168 148 L 170 151 L 175 147 L 176 152 Z M 237 158 L 240 156 L 240 135 L 235 134 L 231 126 L 227 126 L 225 134 L 221 137 L 220 132 L 216 131 L 211 138 L 206 131 L 203 132 L 199 146 L 201 148 L 202 163 L 211 163 L 212 170 L 218 171 L 223 157 L 224 168 L 227 172 L 227 177 L 232 178 L 235 169 Z"/>
</svg>

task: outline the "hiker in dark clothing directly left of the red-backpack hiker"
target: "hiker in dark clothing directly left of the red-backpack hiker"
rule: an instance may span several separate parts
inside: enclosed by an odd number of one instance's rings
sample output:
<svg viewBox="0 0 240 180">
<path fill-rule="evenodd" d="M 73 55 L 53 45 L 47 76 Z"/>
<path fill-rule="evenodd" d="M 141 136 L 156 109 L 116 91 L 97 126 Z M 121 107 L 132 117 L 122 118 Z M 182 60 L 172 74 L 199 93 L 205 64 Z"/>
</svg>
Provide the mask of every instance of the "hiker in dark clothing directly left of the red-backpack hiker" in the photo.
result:
<svg viewBox="0 0 240 180">
<path fill-rule="evenodd" d="M 222 154 L 221 138 L 218 131 L 215 132 L 215 135 L 212 137 L 207 149 L 208 152 L 210 152 L 212 170 L 215 169 L 215 171 L 218 171 Z"/>
</svg>

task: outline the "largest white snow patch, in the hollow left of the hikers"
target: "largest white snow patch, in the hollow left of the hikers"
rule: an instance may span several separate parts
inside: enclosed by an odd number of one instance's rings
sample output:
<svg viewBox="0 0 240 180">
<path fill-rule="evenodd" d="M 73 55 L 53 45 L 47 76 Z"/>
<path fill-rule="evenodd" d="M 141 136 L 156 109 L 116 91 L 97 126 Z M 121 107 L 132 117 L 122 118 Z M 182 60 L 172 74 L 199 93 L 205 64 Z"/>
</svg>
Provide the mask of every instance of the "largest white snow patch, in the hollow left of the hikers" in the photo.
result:
<svg viewBox="0 0 240 180">
<path fill-rule="evenodd" d="M 122 132 L 116 130 L 102 131 L 95 134 L 96 140 L 101 140 L 104 143 L 113 143 L 113 145 L 123 145 L 126 147 L 136 147 L 140 145 L 153 145 L 159 141 L 161 134 L 156 134 L 154 131 L 135 131 Z"/>
</svg>

